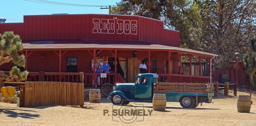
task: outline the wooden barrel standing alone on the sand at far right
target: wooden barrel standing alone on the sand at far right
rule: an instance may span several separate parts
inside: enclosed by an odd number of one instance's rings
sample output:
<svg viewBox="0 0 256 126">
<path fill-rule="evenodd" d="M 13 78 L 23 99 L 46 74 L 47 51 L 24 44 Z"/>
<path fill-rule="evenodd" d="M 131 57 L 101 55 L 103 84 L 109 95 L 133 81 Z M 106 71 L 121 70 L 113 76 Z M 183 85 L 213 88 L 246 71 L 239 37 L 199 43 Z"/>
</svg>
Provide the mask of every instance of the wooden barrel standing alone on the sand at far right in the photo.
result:
<svg viewBox="0 0 256 126">
<path fill-rule="evenodd" d="M 251 109 L 251 98 L 247 95 L 240 95 L 237 98 L 237 111 L 250 113 Z"/>
</svg>

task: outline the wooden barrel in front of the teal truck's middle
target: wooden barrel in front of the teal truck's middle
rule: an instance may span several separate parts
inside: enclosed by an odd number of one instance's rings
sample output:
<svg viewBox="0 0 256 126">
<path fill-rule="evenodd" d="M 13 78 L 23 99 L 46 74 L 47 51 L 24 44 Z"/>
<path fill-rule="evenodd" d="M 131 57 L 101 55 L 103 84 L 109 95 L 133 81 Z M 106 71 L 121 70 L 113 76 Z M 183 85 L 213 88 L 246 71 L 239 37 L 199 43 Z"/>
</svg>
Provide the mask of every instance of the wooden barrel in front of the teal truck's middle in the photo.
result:
<svg viewBox="0 0 256 126">
<path fill-rule="evenodd" d="M 166 96 L 165 94 L 154 94 L 153 96 L 153 110 L 165 110 Z"/>
</svg>

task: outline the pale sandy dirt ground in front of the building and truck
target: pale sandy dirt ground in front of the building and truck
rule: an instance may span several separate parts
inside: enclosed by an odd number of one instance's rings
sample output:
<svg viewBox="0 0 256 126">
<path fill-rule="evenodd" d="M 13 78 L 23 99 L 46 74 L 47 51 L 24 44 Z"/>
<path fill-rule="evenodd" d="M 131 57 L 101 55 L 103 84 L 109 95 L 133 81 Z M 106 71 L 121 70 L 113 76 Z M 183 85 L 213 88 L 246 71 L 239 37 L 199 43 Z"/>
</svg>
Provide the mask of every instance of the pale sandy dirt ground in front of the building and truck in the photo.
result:
<svg viewBox="0 0 256 126">
<path fill-rule="evenodd" d="M 127 109 L 145 110 L 145 116 L 113 116 L 112 104 L 106 97 L 102 103 L 92 104 L 85 101 L 84 107 L 78 106 L 38 106 L 35 108 L 19 108 L 16 104 L 0 102 L 0 124 L 6 125 L 238 125 L 255 126 L 256 124 L 256 93 L 253 92 L 250 113 L 237 112 L 237 97 L 219 96 L 213 104 L 204 103 L 194 109 L 185 109 L 178 102 L 167 102 L 166 110 L 154 111 L 152 103 L 131 103 Z M 249 95 L 248 91 L 238 95 Z M 133 105 L 133 106 L 132 106 Z M 134 107 L 135 106 L 135 107 Z M 144 106 L 144 107 L 142 107 Z M 88 109 L 87 107 L 91 107 Z M 119 109 L 122 106 L 114 106 Z M 122 109 L 122 108 L 121 108 Z M 104 116 L 104 111 L 108 113 Z M 149 111 L 151 116 L 149 116 Z M 115 114 L 115 113 L 114 113 Z M 122 114 L 122 113 L 120 113 Z M 114 121 L 113 121 L 114 120 Z M 123 120 L 123 122 L 122 122 Z M 134 122 L 133 122 L 134 121 Z M 124 123 L 126 122 L 126 123 Z M 132 123 L 130 123 L 132 122 Z M 130 123 L 130 124 L 127 124 Z"/>
</svg>

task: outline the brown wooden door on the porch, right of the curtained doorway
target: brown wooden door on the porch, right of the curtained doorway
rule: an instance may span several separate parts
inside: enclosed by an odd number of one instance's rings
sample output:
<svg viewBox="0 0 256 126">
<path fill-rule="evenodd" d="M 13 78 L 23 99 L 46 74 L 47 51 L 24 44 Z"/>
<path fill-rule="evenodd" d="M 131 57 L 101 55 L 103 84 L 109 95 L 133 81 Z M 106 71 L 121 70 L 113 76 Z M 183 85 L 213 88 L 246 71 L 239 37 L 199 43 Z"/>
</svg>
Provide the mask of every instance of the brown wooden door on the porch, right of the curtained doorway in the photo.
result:
<svg viewBox="0 0 256 126">
<path fill-rule="evenodd" d="M 128 58 L 128 83 L 134 83 L 135 77 L 140 73 L 140 58 Z"/>
</svg>

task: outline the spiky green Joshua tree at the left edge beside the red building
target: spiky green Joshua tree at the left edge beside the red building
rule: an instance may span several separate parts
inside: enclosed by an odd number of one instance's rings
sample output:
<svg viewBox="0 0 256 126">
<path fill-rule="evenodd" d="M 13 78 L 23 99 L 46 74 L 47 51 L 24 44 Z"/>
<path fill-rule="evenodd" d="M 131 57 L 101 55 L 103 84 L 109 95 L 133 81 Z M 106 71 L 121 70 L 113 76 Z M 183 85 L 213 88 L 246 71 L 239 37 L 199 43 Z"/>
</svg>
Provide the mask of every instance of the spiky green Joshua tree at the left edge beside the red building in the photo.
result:
<svg viewBox="0 0 256 126">
<path fill-rule="evenodd" d="M 20 55 L 23 49 L 19 35 L 14 35 L 12 31 L 0 34 L 0 66 L 2 64 L 12 62 L 17 66 L 25 67 L 26 60 L 24 55 Z M 17 66 L 13 66 L 10 71 L 10 76 L 0 75 L 0 79 L 6 81 L 25 81 L 28 76 L 28 71 L 20 72 Z"/>
</svg>

